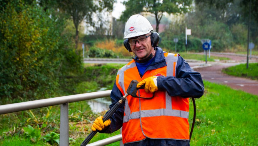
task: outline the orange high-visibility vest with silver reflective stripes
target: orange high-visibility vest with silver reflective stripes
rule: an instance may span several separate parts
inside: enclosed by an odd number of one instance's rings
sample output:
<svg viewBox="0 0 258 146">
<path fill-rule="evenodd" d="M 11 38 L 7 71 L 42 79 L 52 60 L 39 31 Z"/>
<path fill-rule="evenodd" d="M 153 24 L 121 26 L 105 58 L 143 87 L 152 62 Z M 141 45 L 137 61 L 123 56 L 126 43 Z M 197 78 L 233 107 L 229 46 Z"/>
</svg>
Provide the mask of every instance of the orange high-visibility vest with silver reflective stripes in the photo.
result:
<svg viewBox="0 0 258 146">
<path fill-rule="evenodd" d="M 116 85 L 125 95 L 131 80 L 138 82 L 156 75 L 175 76 L 178 54 L 164 53 L 167 66 L 148 70 L 140 77 L 135 61 L 119 69 Z M 176 91 L 174 91 L 176 92 Z M 152 97 L 144 89 L 138 90 L 139 97 Z M 189 99 L 171 97 L 166 91 L 156 91 L 152 99 L 127 96 L 122 128 L 123 143 L 151 139 L 189 140 Z"/>
</svg>

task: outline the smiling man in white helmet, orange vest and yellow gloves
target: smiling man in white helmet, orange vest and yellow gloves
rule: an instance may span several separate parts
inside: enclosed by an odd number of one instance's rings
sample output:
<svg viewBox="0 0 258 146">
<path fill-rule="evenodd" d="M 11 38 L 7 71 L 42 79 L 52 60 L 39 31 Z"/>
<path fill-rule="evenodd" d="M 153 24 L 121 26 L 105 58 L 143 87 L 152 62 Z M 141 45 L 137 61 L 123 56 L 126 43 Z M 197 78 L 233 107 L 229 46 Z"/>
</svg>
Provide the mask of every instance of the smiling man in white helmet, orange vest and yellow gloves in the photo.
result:
<svg viewBox="0 0 258 146">
<path fill-rule="evenodd" d="M 190 145 L 189 98 L 203 95 L 201 75 L 179 55 L 163 52 L 157 46 L 159 36 L 150 22 L 133 15 L 126 22 L 124 45 L 136 56 L 120 68 L 111 92 L 114 106 L 125 95 L 131 80 L 137 80 L 138 96 L 127 96 L 126 102 L 103 123 L 102 116 L 92 130 L 112 133 L 122 126 L 125 146 Z M 144 99 L 144 97 L 152 97 Z"/>
</svg>

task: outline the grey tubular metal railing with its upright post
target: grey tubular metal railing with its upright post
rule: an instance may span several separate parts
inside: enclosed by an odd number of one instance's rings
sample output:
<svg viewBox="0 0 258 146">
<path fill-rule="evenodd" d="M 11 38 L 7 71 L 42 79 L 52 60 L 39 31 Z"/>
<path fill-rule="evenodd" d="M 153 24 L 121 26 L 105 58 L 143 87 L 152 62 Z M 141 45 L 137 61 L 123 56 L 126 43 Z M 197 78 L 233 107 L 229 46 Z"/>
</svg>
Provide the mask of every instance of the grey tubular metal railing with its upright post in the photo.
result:
<svg viewBox="0 0 258 146">
<path fill-rule="evenodd" d="M 61 105 L 60 106 L 61 109 L 60 109 L 59 145 L 68 146 L 69 145 L 68 103 L 108 97 L 110 96 L 110 93 L 111 93 L 111 90 L 107 90 L 107 91 L 69 95 L 69 96 L 62 96 L 62 97 L 55 97 L 55 98 L 48 98 L 48 99 L 40 99 L 40 100 L 27 101 L 22 103 L 13 103 L 8 105 L 0 105 L 0 114 L 7 114 L 11 112 L 19 112 L 19 111 L 30 110 L 30 109 L 38 109 L 42 107 L 50 107 L 53 105 Z M 102 146 L 103 144 L 107 145 L 120 140 L 122 140 L 121 134 L 113 137 L 109 137 L 107 139 L 103 139 L 101 141 L 97 141 L 95 143 L 90 143 L 89 146 Z"/>
</svg>

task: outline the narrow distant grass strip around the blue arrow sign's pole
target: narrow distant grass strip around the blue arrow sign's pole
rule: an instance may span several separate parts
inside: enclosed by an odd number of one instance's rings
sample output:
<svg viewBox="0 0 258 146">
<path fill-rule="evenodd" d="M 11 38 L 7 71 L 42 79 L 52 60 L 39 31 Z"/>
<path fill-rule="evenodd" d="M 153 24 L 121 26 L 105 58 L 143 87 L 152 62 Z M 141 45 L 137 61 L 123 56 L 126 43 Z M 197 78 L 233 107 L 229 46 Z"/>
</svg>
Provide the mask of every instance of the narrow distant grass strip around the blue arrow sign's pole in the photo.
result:
<svg viewBox="0 0 258 146">
<path fill-rule="evenodd" d="M 186 52 L 181 52 L 179 53 L 180 56 L 182 56 L 184 59 L 196 59 L 196 60 L 201 60 L 205 61 L 205 55 L 199 55 L 199 54 L 194 54 L 194 53 L 186 53 Z M 207 54 L 207 61 L 215 61 L 215 59 L 219 60 L 229 60 L 229 58 L 226 57 L 216 57 L 216 56 L 211 56 L 209 58 Z"/>
</svg>

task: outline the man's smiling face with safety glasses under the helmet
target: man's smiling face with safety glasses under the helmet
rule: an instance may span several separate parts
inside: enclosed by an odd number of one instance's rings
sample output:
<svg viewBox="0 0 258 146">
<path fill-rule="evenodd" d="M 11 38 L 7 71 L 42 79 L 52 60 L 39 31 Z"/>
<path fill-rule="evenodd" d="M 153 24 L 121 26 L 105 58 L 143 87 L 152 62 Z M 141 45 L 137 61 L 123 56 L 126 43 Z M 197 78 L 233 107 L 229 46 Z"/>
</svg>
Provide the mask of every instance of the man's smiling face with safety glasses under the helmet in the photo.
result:
<svg viewBox="0 0 258 146">
<path fill-rule="evenodd" d="M 139 58 L 139 60 L 146 59 L 153 51 L 150 42 L 150 33 L 128 39 L 132 52 Z"/>
</svg>

